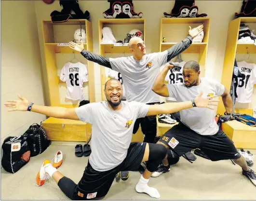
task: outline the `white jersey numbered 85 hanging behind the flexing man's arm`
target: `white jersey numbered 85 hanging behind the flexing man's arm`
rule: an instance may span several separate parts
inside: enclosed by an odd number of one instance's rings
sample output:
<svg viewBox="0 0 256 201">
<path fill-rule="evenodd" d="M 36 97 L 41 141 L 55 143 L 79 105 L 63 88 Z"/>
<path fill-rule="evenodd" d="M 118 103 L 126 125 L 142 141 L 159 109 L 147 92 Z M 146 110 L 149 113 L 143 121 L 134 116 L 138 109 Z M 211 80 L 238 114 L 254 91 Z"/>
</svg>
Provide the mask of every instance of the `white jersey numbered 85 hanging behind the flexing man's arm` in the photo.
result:
<svg viewBox="0 0 256 201">
<path fill-rule="evenodd" d="M 183 83 L 183 67 L 186 64 L 185 61 L 178 63 L 182 67 L 179 71 L 174 71 L 171 73 L 171 70 L 168 70 L 167 75 L 165 76 L 165 81 L 168 81 L 168 84 Z M 165 64 L 160 68 L 160 71 L 165 67 Z M 167 100 L 176 101 L 174 97 L 166 97 Z"/>
</svg>

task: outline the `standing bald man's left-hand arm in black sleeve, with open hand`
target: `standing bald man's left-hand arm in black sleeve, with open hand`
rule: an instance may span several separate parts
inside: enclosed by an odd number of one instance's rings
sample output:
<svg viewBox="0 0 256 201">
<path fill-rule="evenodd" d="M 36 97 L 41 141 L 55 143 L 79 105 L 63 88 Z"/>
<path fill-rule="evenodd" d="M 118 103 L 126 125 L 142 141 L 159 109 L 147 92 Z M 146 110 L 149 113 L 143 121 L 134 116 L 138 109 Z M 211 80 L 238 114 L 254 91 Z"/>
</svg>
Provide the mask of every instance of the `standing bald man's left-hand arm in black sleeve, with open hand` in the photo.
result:
<svg viewBox="0 0 256 201">
<path fill-rule="evenodd" d="M 81 42 L 81 44 L 77 44 L 75 42 L 69 42 L 69 47 L 75 51 L 80 52 L 83 55 L 83 57 L 86 58 L 87 60 L 93 61 L 101 66 L 111 68 L 109 58 L 99 55 L 99 54 L 91 53 L 87 50 L 84 50 L 82 42 Z"/>
</svg>

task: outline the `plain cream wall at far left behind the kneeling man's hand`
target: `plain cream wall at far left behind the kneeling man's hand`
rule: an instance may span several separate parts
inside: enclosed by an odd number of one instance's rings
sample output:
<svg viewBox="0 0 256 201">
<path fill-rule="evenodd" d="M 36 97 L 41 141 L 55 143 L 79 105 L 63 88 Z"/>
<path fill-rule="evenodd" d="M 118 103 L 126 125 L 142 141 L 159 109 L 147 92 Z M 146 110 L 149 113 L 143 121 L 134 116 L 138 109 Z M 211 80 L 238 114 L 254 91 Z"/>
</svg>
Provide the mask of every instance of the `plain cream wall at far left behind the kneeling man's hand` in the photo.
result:
<svg viewBox="0 0 256 201">
<path fill-rule="evenodd" d="M 1 1 L 1 144 L 46 119 L 30 112 L 7 112 L 4 103 L 21 94 L 44 105 L 34 1 Z"/>
</svg>

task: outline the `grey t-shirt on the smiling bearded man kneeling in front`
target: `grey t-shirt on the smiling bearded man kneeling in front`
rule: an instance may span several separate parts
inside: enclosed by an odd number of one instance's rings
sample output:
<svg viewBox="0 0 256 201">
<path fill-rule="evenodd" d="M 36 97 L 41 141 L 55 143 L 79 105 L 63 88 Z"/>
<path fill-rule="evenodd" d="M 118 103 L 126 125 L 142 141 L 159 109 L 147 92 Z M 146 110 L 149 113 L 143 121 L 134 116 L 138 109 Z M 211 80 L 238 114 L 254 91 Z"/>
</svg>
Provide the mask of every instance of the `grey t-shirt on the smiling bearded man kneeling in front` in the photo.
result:
<svg viewBox="0 0 256 201">
<path fill-rule="evenodd" d="M 148 113 L 147 104 L 135 101 L 121 104 L 117 111 L 108 107 L 108 101 L 76 107 L 79 119 L 92 124 L 89 162 L 94 170 L 108 171 L 121 164 L 127 156 L 136 119 Z"/>
</svg>

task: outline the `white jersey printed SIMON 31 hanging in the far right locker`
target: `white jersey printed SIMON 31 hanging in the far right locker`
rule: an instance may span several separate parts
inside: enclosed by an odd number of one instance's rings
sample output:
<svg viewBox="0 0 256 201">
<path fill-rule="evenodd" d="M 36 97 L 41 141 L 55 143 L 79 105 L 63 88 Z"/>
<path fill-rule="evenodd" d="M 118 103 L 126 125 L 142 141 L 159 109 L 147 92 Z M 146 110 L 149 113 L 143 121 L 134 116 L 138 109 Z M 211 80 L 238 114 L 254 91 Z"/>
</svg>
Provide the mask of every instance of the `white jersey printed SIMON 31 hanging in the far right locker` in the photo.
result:
<svg viewBox="0 0 256 201">
<path fill-rule="evenodd" d="M 256 83 L 256 64 L 241 61 L 237 62 L 237 66 L 241 75 L 238 77 L 236 101 L 239 103 L 251 103 L 254 83 Z"/>
</svg>

